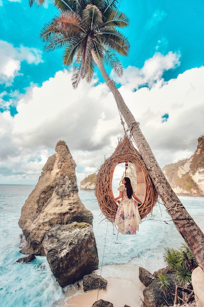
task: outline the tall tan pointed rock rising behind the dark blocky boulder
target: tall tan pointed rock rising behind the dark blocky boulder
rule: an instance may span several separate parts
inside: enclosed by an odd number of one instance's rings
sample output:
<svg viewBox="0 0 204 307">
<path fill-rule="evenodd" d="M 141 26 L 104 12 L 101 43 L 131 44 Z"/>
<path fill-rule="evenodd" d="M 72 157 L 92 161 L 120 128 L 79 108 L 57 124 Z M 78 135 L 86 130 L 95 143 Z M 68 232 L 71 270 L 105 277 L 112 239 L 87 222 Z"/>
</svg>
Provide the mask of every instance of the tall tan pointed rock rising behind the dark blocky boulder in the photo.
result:
<svg viewBox="0 0 204 307">
<path fill-rule="evenodd" d="M 78 196 L 76 164 L 64 141 L 43 167 L 35 189 L 22 207 L 19 226 L 23 230 L 21 252 L 45 255 L 43 240 L 56 225 L 74 221 L 92 225 L 93 215 Z"/>
</svg>

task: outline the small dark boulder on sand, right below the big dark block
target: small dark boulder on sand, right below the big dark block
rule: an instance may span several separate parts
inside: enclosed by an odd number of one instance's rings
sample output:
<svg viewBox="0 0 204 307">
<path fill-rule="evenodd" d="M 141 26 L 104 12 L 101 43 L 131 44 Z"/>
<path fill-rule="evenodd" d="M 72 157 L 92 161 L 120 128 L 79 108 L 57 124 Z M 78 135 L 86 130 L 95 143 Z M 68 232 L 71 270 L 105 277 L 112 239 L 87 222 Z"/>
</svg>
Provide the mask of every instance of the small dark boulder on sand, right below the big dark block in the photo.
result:
<svg viewBox="0 0 204 307">
<path fill-rule="evenodd" d="M 108 281 L 96 274 L 89 274 L 83 277 L 84 291 L 103 289 L 106 290 Z"/>
</svg>

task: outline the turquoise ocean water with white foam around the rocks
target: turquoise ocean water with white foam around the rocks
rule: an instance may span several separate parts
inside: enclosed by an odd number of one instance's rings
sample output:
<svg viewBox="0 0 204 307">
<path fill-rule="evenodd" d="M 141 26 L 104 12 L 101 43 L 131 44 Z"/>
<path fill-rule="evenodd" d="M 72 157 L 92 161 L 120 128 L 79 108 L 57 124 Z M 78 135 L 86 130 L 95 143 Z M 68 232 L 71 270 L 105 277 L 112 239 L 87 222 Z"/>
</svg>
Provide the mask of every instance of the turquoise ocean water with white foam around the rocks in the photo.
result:
<svg viewBox="0 0 204 307">
<path fill-rule="evenodd" d="M 54 307 L 65 306 L 66 300 L 77 294 L 76 287 L 62 289 L 53 277 L 45 256 L 37 256 L 31 263 L 15 263 L 19 253 L 18 226 L 21 208 L 34 186 L 0 184 L 0 306 Z M 115 189 L 115 196 L 117 192 Z M 153 214 L 139 225 L 136 235 L 118 234 L 104 219 L 93 191 L 79 190 L 83 204 L 93 213 L 99 270 L 104 278 L 128 278 L 125 270 L 116 265 L 142 266 L 154 272 L 165 266 L 165 247 L 180 247 L 184 243 L 163 205 L 157 204 Z M 204 198 L 180 197 L 181 202 L 204 229 Z"/>
</svg>

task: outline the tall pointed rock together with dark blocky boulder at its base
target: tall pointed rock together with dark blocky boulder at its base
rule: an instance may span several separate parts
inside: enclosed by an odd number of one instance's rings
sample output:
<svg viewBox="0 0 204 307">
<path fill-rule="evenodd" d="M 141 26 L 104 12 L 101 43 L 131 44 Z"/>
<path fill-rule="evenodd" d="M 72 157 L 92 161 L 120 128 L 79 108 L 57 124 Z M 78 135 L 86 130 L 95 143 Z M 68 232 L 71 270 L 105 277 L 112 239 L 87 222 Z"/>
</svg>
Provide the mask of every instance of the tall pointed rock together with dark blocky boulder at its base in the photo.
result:
<svg viewBox="0 0 204 307">
<path fill-rule="evenodd" d="M 93 215 L 78 196 L 76 164 L 64 141 L 57 143 L 55 151 L 22 207 L 19 226 L 23 230 L 21 253 L 46 255 L 54 276 L 64 286 L 97 269 L 98 256 Z"/>
</svg>

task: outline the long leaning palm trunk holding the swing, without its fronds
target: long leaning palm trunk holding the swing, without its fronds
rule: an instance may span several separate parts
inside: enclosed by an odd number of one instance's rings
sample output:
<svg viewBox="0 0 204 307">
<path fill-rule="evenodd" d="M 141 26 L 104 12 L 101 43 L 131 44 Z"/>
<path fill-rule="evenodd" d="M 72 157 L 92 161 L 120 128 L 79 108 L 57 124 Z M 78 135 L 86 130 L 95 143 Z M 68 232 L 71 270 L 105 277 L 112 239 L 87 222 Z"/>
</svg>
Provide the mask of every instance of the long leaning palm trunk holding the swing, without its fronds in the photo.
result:
<svg viewBox="0 0 204 307">
<path fill-rule="evenodd" d="M 115 87 L 113 81 L 106 73 L 103 64 L 97 58 L 93 50 L 91 51 L 91 54 L 102 76 L 104 77 L 107 86 L 113 93 L 115 102 L 117 103 L 117 106 L 128 128 L 132 129 L 136 145 L 139 149 L 140 154 L 142 155 L 147 170 L 153 179 L 160 198 L 166 207 L 166 211 L 171 216 L 177 230 L 181 233 L 181 236 L 183 237 L 192 254 L 196 258 L 198 265 L 204 271 L 204 233 L 198 227 L 192 217 L 188 214 L 184 206 L 181 204 L 181 201 L 172 190 L 170 184 L 168 183 L 162 170 L 160 169 L 148 142 L 146 141 L 144 135 L 139 128 L 139 123 L 136 122 L 133 114 L 125 104 L 120 92 Z"/>
</svg>

